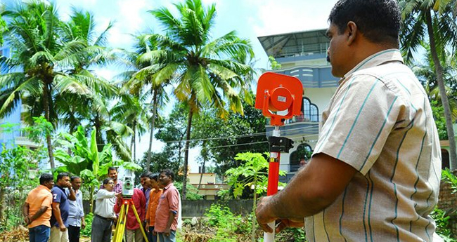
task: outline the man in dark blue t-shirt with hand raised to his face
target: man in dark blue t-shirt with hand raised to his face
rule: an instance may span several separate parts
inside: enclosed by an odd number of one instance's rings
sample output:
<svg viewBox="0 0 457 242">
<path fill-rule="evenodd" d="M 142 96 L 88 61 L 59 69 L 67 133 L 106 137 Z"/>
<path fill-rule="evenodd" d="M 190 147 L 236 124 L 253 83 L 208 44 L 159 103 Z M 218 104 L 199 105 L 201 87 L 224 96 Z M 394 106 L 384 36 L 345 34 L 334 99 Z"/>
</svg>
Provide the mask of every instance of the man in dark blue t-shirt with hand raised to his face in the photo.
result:
<svg viewBox="0 0 457 242">
<path fill-rule="evenodd" d="M 65 188 L 67 188 L 70 195 L 67 195 Z M 57 175 L 57 182 L 51 189 L 51 193 L 53 200 L 49 242 L 68 242 L 67 218 L 68 210 L 70 210 L 68 199 L 75 201 L 76 195 L 70 183 L 70 176 L 67 173 Z"/>
</svg>

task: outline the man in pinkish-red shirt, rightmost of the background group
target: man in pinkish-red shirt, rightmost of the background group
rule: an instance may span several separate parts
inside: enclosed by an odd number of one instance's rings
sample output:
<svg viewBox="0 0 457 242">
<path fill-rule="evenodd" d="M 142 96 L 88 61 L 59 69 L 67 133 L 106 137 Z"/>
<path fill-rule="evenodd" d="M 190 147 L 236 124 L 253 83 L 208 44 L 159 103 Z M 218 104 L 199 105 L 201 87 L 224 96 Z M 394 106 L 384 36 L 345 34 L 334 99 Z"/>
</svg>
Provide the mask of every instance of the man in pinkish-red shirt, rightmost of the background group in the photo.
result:
<svg viewBox="0 0 457 242">
<path fill-rule="evenodd" d="M 162 170 L 159 182 L 162 184 L 163 193 L 155 211 L 154 231 L 160 242 L 175 242 L 178 227 L 179 191 L 173 185 L 174 173 L 172 170 Z"/>
</svg>

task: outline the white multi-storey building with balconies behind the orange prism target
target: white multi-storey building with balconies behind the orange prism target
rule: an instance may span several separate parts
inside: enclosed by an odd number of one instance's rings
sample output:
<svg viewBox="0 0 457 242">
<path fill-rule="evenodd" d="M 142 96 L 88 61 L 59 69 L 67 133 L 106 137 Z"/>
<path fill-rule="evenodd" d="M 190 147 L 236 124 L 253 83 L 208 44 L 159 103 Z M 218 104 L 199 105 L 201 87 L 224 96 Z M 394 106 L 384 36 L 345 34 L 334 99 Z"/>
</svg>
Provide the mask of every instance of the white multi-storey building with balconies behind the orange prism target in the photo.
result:
<svg viewBox="0 0 457 242">
<path fill-rule="evenodd" d="M 276 34 L 258 37 L 266 55 L 273 56 L 281 64 L 281 69 L 269 70 L 295 76 L 304 88 L 302 115 L 285 121 L 281 126 L 281 136 L 292 139 L 295 144 L 288 154 L 281 154 L 280 168 L 285 170 L 289 180 L 298 168 L 300 161 L 307 161 L 318 139 L 321 114 L 326 109 L 330 98 L 337 88 L 337 81 L 331 74 L 327 62 L 329 40 L 326 29 Z M 271 135 L 273 126 L 266 126 L 267 135 Z"/>
</svg>

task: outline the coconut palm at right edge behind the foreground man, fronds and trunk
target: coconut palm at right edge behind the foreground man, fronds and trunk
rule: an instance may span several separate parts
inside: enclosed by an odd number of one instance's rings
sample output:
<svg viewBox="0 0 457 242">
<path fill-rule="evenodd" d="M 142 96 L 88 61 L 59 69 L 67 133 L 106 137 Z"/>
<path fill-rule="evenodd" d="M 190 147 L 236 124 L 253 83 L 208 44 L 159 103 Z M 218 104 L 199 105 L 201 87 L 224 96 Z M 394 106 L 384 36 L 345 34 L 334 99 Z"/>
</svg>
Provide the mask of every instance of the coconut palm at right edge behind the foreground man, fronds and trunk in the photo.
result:
<svg viewBox="0 0 457 242">
<path fill-rule="evenodd" d="M 401 50 L 406 60 L 411 60 L 413 52 L 420 47 L 424 39 L 428 39 L 430 53 L 435 66 L 439 93 L 444 107 L 446 129 L 449 136 L 451 169 L 457 168 L 456 141 L 453 132 L 453 121 L 446 85 L 443 78 L 442 60 L 446 55 L 446 48 L 452 48 L 453 59 L 457 57 L 457 25 L 456 0 L 400 0 L 401 18 L 404 28 L 401 33 Z"/>
</svg>

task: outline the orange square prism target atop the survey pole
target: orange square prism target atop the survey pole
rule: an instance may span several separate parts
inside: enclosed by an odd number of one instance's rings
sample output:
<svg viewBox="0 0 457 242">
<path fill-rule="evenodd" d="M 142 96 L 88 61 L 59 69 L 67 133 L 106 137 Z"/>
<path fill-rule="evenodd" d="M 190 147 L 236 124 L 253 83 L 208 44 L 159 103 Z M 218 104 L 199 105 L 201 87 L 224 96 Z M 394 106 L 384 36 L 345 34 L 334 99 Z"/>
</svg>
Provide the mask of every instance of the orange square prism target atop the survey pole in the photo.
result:
<svg viewBox="0 0 457 242">
<path fill-rule="evenodd" d="M 293 77 L 265 72 L 257 83 L 255 108 L 271 119 L 273 126 L 283 126 L 285 119 L 300 115 L 302 108 L 302 82 Z M 285 115 L 273 112 L 287 111 Z"/>
</svg>

